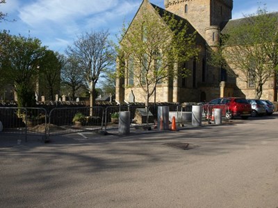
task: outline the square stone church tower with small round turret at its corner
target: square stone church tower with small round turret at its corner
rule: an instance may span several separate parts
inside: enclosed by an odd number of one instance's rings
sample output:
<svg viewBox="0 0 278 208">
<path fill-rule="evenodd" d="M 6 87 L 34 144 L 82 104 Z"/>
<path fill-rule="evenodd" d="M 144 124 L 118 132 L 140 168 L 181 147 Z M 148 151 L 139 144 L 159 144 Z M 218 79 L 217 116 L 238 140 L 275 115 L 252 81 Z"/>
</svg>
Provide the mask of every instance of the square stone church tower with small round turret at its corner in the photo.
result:
<svg viewBox="0 0 278 208">
<path fill-rule="evenodd" d="M 233 0 L 164 0 L 164 5 L 166 10 L 187 19 L 208 45 L 214 46 L 231 19 Z"/>
</svg>

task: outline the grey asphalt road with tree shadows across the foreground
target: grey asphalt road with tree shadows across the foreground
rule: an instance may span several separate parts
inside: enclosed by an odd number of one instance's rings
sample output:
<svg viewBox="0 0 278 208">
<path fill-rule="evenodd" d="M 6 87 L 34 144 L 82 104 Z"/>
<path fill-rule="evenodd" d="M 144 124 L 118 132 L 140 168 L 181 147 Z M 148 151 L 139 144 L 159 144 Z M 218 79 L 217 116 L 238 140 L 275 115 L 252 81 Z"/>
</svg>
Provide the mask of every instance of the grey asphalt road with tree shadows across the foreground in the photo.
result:
<svg viewBox="0 0 278 208">
<path fill-rule="evenodd" d="M 49 144 L 6 147 L 0 138 L 0 207 L 276 208 L 277 123 L 276 113 L 178 132 L 67 135 Z"/>
</svg>

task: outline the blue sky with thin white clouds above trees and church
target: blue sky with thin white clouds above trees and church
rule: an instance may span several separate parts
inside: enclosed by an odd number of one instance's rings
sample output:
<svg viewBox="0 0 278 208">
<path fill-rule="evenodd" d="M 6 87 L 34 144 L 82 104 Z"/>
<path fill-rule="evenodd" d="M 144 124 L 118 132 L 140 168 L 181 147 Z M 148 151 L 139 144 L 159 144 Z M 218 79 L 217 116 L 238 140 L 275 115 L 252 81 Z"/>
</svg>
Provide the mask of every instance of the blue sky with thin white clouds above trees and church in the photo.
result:
<svg viewBox="0 0 278 208">
<path fill-rule="evenodd" d="M 164 0 L 149 0 L 164 8 Z M 258 3 L 259 2 L 259 3 Z M 117 40 L 123 23 L 129 23 L 142 0 L 6 0 L 1 12 L 8 13 L 0 22 L 0 31 L 11 35 L 37 37 L 50 50 L 65 53 L 81 33 L 108 30 Z M 259 6 L 278 11 L 277 0 L 234 0 L 232 19 L 256 13 Z"/>
</svg>

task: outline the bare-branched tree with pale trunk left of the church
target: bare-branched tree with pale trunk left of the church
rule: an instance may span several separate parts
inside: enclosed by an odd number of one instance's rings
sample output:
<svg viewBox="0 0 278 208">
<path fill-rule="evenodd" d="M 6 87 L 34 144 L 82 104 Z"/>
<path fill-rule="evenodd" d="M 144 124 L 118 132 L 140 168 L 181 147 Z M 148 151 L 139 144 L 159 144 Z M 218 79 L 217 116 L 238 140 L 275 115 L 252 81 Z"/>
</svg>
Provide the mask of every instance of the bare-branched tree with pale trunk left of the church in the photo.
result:
<svg viewBox="0 0 278 208">
<path fill-rule="evenodd" d="M 108 36 L 108 31 L 85 33 L 74 41 L 73 46 L 68 46 L 66 51 L 67 55 L 80 64 L 80 69 L 90 86 L 91 116 L 92 107 L 95 105 L 95 86 L 101 74 L 115 65 L 115 48 Z"/>
</svg>

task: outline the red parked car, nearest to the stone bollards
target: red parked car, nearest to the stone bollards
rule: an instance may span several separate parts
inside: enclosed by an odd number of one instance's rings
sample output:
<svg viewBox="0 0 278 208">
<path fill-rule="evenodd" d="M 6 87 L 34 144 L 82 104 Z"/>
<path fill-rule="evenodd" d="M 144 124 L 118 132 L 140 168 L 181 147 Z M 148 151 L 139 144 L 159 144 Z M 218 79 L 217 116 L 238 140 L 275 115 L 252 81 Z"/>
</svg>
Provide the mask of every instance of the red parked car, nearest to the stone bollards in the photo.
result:
<svg viewBox="0 0 278 208">
<path fill-rule="evenodd" d="M 252 112 L 251 105 L 245 98 L 216 98 L 203 106 L 204 114 L 211 114 L 213 108 L 220 108 L 222 109 L 222 116 L 227 119 L 233 119 L 235 116 L 248 119 Z"/>
</svg>

